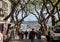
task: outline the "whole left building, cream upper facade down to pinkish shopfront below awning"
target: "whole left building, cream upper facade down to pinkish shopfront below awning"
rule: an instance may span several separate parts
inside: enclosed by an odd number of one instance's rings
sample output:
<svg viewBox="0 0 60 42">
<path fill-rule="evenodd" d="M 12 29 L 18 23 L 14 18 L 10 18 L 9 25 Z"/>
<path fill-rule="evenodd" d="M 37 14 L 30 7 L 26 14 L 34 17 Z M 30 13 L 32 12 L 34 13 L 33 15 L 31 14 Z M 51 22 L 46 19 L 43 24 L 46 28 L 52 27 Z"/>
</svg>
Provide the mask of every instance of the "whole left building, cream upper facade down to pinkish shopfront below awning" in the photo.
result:
<svg viewBox="0 0 60 42">
<path fill-rule="evenodd" d="M 10 19 L 7 21 L 4 21 L 3 19 L 7 17 L 11 12 L 11 3 L 9 0 L 0 0 L 0 31 L 3 33 L 3 36 L 5 36 L 8 23 L 10 23 Z"/>
</svg>

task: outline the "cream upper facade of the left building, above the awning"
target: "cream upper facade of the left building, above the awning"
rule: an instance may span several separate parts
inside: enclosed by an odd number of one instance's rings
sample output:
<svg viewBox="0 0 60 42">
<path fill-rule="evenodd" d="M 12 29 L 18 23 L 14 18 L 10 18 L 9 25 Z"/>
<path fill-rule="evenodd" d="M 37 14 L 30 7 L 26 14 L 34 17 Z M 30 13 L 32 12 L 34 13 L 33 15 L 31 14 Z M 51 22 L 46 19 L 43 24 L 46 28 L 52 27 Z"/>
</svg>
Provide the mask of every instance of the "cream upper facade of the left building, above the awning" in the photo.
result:
<svg viewBox="0 0 60 42">
<path fill-rule="evenodd" d="M 3 20 L 6 16 L 9 15 L 10 12 L 11 3 L 9 2 L 9 0 L 0 0 L 0 20 Z"/>
</svg>

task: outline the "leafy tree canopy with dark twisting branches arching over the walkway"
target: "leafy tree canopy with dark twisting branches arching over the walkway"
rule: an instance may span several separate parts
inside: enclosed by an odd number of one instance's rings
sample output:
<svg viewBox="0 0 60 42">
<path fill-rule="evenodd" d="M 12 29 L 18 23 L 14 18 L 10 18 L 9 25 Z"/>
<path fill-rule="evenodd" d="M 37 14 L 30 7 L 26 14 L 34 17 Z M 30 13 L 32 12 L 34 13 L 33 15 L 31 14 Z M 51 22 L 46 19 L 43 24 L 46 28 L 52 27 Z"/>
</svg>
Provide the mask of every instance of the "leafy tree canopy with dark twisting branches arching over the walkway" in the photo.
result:
<svg viewBox="0 0 60 42">
<path fill-rule="evenodd" d="M 15 18 L 14 21 L 18 24 L 20 20 L 24 21 L 28 15 L 32 14 L 45 29 L 50 18 L 52 26 L 60 21 L 60 0 L 10 0 L 10 2 L 12 4 L 11 13 L 4 20 L 10 17 L 12 20 Z M 19 14 L 22 18 L 18 18 Z"/>
</svg>

